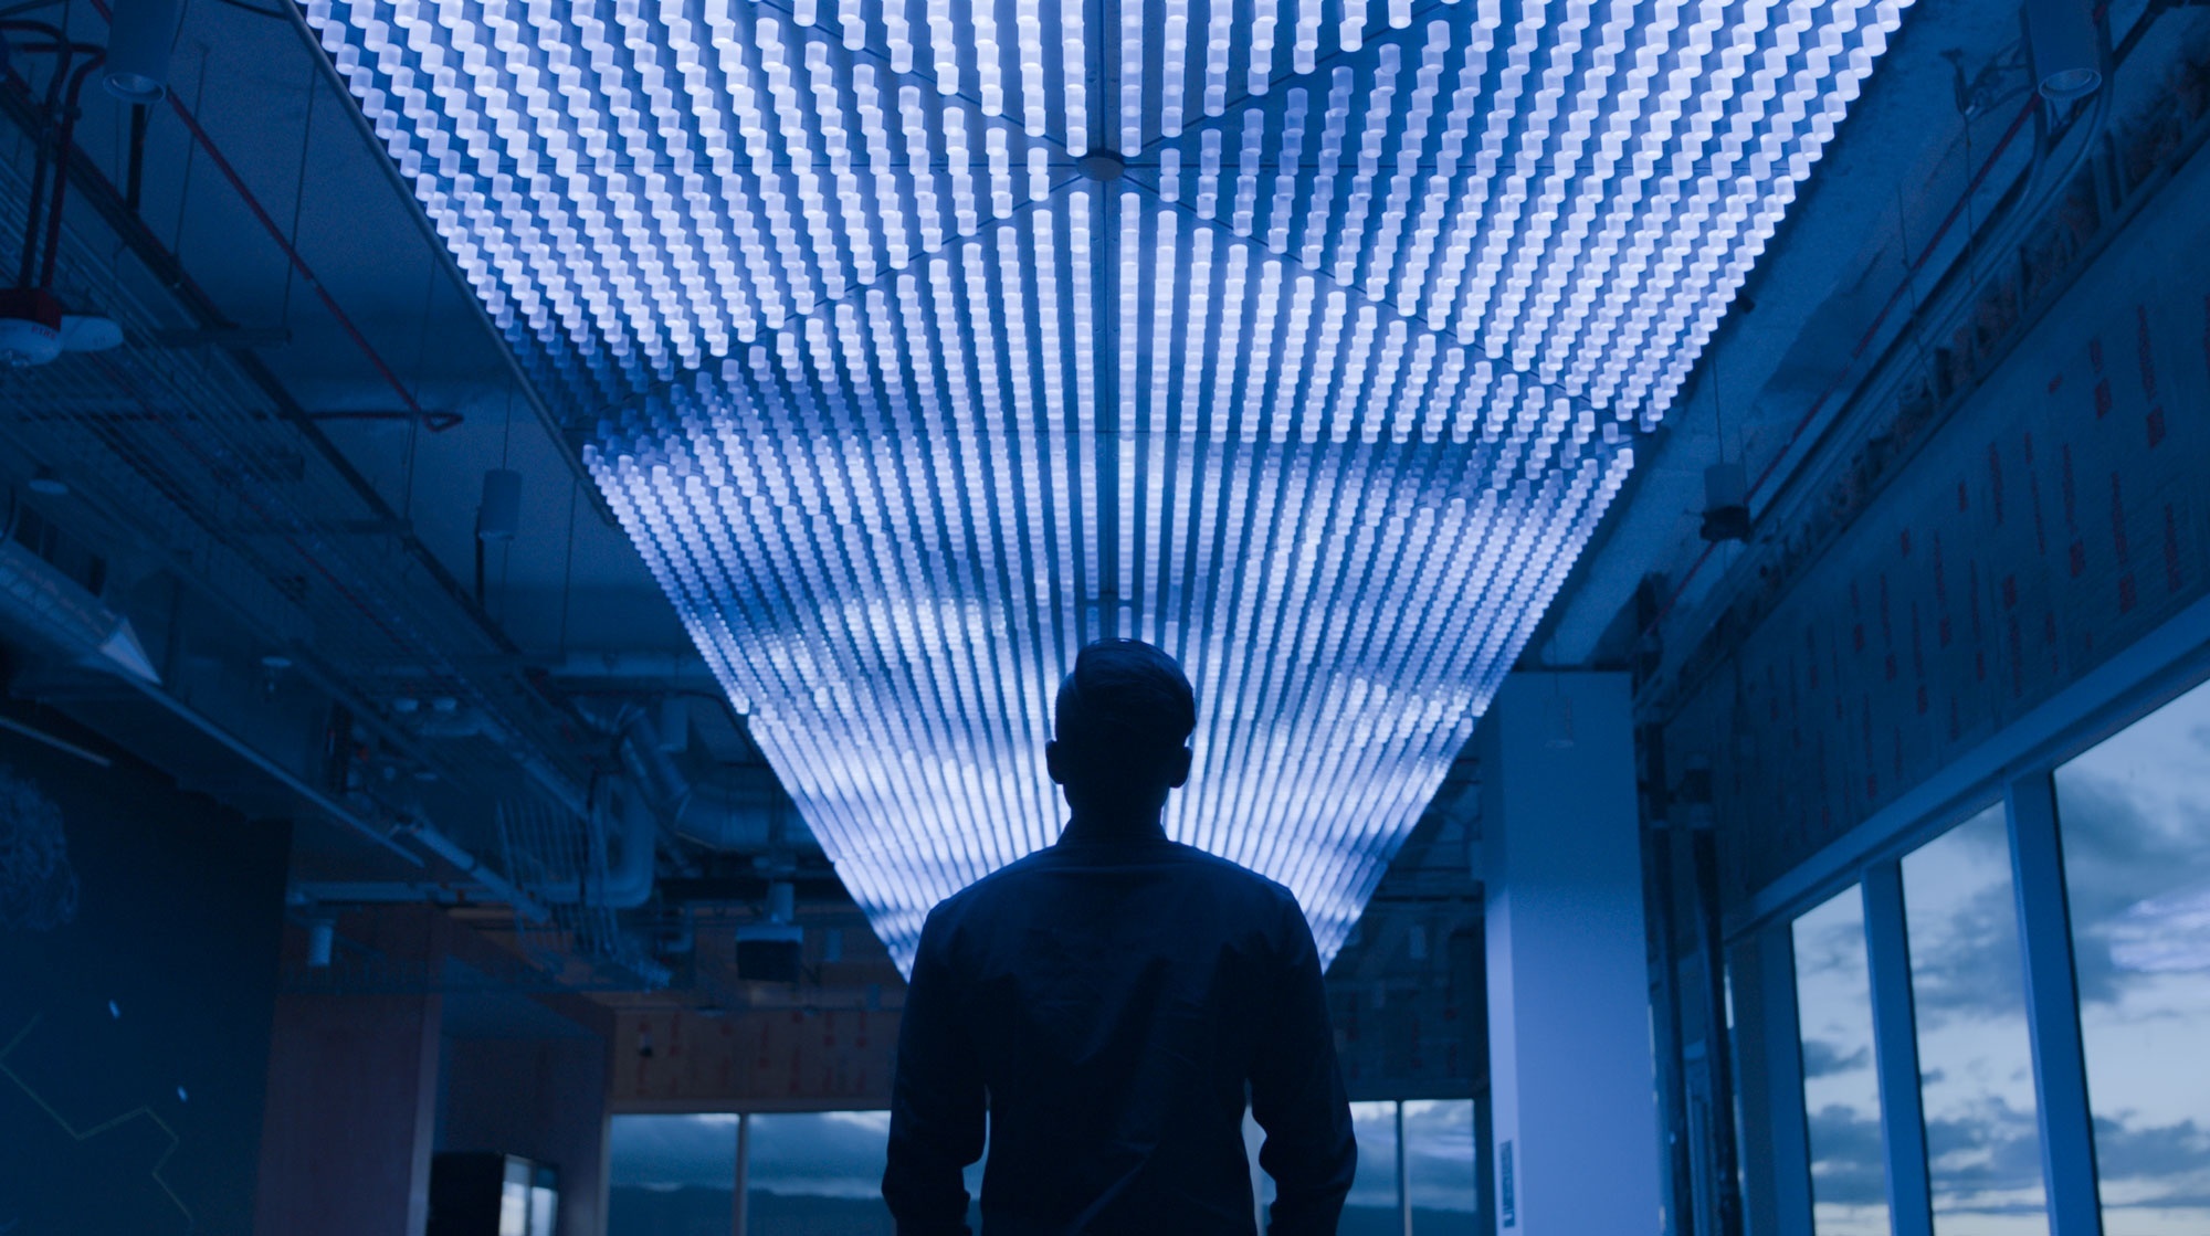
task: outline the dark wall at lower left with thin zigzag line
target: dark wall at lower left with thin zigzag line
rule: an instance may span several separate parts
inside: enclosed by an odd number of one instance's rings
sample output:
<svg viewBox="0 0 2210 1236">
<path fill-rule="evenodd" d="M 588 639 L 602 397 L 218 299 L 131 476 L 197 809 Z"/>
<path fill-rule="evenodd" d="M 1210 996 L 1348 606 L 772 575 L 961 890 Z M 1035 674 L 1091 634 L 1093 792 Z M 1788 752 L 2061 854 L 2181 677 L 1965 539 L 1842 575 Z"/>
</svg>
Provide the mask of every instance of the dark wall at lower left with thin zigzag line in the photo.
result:
<svg viewBox="0 0 2210 1236">
<path fill-rule="evenodd" d="M 287 854 L 0 733 L 0 1232 L 252 1229 Z"/>
</svg>

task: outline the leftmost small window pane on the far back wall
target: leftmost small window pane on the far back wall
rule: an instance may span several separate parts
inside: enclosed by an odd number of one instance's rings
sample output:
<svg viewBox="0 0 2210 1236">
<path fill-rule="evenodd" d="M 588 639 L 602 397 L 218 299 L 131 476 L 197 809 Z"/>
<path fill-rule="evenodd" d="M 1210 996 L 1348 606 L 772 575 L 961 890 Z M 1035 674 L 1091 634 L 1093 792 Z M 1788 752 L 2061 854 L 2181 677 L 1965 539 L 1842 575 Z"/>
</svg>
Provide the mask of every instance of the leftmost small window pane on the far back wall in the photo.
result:
<svg viewBox="0 0 2210 1236">
<path fill-rule="evenodd" d="M 608 1170 L 608 1236 L 727 1236 L 736 1117 L 614 1117 Z"/>
</svg>

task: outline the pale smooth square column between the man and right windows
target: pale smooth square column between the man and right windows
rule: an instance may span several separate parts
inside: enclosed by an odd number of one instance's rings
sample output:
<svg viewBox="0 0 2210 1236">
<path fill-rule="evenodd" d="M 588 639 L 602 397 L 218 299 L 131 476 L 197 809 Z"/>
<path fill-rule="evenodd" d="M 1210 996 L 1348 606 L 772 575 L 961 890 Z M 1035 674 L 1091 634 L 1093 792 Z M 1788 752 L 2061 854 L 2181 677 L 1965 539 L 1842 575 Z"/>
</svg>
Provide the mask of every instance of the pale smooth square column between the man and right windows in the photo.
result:
<svg viewBox="0 0 2210 1236">
<path fill-rule="evenodd" d="M 1655 1234 L 1627 675 L 1514 673 L 1478 750 L 1496 1229 Z"/>
</svg>

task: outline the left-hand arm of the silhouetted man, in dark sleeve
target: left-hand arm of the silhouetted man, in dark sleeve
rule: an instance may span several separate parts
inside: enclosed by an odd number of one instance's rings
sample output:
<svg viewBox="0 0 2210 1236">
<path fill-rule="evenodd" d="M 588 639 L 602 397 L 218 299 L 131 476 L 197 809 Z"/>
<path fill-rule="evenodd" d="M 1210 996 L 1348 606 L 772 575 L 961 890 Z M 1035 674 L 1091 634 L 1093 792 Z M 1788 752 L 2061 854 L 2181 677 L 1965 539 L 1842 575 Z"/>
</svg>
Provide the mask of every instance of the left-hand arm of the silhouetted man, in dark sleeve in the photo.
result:
<svg viewBox="0 0 2210 1236">
<path fill-rule="evenodd" d="M 961 1170 L 981 1159 L 983 1146 L 981 1064 L 959 1020 L 944 934 L 941 914 L 930 912 L 897 1026 L 891 1165 L 882 1174 L 882 1201 L 891 1205 L 899 1236 L 968 1236 Z"/>
</svg>

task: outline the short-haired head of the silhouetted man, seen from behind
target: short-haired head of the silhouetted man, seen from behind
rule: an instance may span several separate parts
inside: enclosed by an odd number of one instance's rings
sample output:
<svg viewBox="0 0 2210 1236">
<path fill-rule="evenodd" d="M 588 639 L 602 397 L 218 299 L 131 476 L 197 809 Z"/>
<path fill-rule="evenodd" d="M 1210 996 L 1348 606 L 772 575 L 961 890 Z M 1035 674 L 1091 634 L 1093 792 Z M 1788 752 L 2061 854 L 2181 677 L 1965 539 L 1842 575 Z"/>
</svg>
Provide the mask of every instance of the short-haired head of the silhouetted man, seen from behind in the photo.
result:
<svg viewBox="0 0 2210 1236">
<path fill-rule="evenodd" d="M 1182 667 L 1140 640 L 1098 640 L 1059 682 L 1054 742 L 1043 746 L 1067 806 L 1109 817 L 1156 817 L 1189 781 L 1198 700 Z"/>
</svg>

